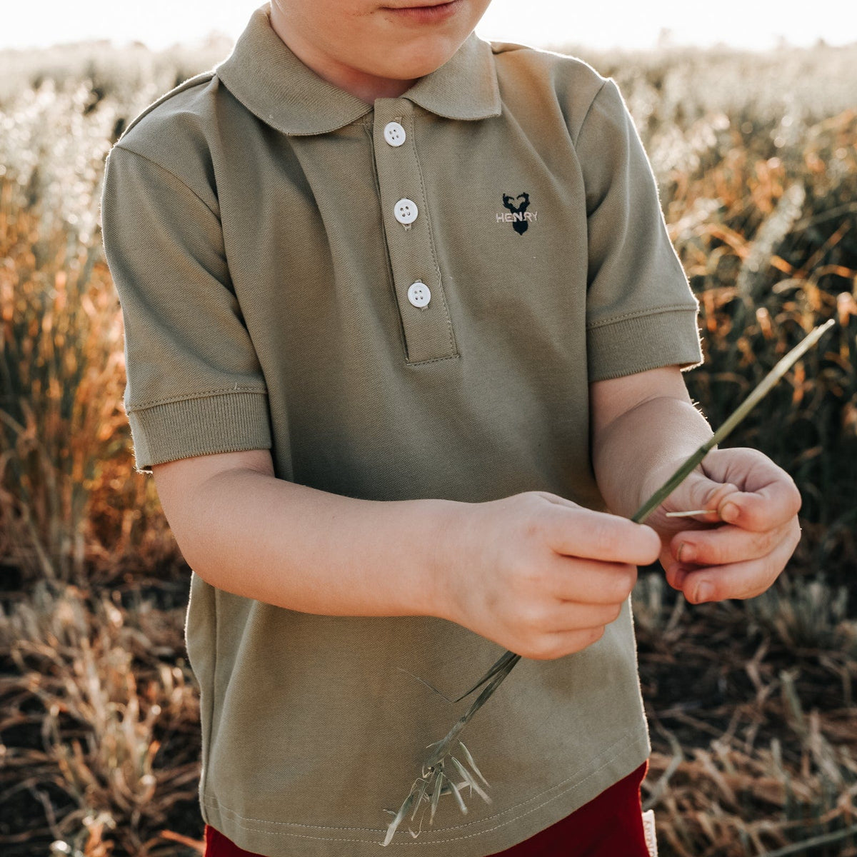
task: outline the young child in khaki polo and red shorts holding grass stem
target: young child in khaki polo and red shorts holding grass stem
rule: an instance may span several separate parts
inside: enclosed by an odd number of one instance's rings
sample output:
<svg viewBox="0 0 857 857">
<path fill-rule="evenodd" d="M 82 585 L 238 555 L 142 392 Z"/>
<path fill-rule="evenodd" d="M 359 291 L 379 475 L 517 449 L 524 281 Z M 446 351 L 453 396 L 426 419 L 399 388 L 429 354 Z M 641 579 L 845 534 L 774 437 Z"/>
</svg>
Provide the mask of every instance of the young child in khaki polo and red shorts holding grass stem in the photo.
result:
<svg viewBox="0 0 857 857">
<path fill-rule="evenodd" d="M 627 520 L 710 437 L 644 149 L 612 79 L 477 38 L 490 0 L 426 2 L 271 0 L 107 160 L 135 463 L 193 569 L 209 857 L 381 853 L 462 713 L 409 673 L 454 698 L 505 649 L 462 736 L 493 802 L 388 847 L 647 854 L 637 566 L 749 598 L 800 537 L 749 449 Z"/>
</svg>

